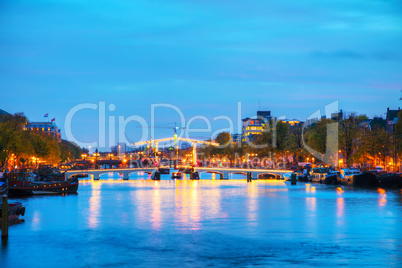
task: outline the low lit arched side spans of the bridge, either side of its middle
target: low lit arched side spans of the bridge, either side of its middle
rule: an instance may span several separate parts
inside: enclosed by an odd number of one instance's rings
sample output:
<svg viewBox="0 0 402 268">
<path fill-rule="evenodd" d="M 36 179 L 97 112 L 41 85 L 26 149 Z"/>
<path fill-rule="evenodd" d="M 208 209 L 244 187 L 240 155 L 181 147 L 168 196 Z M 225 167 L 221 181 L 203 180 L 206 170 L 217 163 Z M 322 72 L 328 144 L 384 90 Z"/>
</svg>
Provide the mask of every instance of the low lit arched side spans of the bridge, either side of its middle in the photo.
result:
<svg viewBox="0 0 402 268">
<path fill-rule="evenodd" d="M 118 173 L 122 176 L 124 180 L 128 180 L 130 174 L 137 172 L 144 172 L 148 174 L 153 174 L 158 171 L 156 167 L 150 168 L 116 168 L 116 169 L 89 169 L 89 170 L 68 170 L 66 171 L 66 179 L 77 175 L 88 175 L 94 180 L 99 180 L 100 176 L 106 173 Z M 196 167 L 195 172 L 201 173 L 211 173 L 219 175 L 219 179 L 227 180 L 232 174 L 243 174 L 251 173 L 251 178 L 254 180 L 262 179 L 265 176 L 273 177 L 276 179 L 283 178 L 283 174 L 293 172 L 292 170 L 276 170 L 276 169 L 246 169 L 246 168 L 207 168 L 207 167 Z"/>
</svg>

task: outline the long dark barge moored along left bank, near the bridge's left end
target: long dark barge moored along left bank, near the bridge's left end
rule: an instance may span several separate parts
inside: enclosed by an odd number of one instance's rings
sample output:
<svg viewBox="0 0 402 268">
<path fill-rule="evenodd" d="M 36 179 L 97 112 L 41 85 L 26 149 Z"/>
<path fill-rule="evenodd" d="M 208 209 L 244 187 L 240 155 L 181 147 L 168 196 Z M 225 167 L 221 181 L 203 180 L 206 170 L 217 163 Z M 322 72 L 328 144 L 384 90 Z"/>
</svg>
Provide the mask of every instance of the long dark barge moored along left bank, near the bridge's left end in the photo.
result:
<svg viewBox="0 0 402 268">
<path fill-rule="evenodd" d="M 77 178 L 68 181 L 36 181 L 26 172 L 8 173 L 7 179 L 10 195 L 76 193 L 79 184 Z"/>
</svg>

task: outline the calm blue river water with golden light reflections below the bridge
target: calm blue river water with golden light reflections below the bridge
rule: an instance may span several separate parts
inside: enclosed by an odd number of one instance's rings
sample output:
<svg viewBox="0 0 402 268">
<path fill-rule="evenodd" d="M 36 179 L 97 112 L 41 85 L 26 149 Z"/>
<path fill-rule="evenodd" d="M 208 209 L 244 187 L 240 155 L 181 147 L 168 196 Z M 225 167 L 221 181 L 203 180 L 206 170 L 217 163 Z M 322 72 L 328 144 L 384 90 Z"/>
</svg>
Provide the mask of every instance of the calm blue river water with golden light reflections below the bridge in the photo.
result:
<svg viewBox="0 0 402 268">
<path fill-rule="evenodd" d="M 25 222 L 0 267 L 402 267 L 400 190 L 201 178 L 109 174 L 12 199 Z"/>
</svg>

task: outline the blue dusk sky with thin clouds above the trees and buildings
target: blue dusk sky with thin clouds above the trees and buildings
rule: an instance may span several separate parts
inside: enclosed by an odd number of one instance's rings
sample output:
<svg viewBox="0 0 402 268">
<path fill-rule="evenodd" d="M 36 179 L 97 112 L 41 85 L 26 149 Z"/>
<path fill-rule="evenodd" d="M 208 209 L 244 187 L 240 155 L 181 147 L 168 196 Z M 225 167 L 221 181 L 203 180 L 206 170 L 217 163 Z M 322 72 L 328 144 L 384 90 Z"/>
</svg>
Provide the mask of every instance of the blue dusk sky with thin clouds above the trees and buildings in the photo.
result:
<svg viewBox="0 0 402 268">
<path fill-rule="evenodd" d="M 402 106 L 401 14 L 399 0 L 3 0 L 0 109 L 31 121 L 49 113 L 63 138 L 68 111 L 100 101 L 116 106 L 108 116 L 147 121 L 158 103 L 186 119 L 235 121 L 238 101 L 242 117 L 260 103 L 303 120 L 333 101 L 383 116 Z M 156 119 L 179 122 L 168 109 Z M 127 128 L 132 140 L 136 126 Z M 80 141 L 96 141 L 97 111 L 78 112 L 72 128 Z"/>
</svg>

